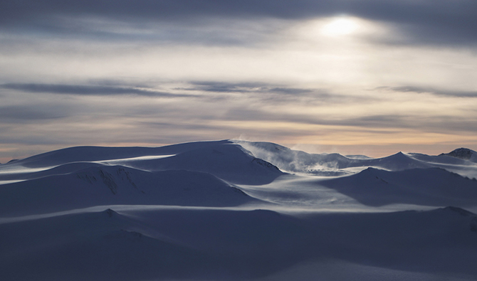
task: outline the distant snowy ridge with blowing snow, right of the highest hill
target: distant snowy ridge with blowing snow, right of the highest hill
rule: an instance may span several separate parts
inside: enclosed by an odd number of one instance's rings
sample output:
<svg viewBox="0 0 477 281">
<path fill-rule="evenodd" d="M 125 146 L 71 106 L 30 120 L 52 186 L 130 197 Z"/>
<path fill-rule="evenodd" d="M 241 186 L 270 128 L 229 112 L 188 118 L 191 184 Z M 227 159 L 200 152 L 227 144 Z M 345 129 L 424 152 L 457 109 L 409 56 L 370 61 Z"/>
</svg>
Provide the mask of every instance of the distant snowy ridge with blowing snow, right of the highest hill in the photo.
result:
<svg viewBox="0 0 477 281">
<path fill-rule="evenodd" d="M 342 176 L 355 174 L 357 171 L 374 167 L 388 171 L 402 171 L 405 169 L 424 169 L 439 167 L 463 176 L 477 178 L 476 163 L 473 158 L 448 157 L 449 154 L 429 156 L 417 153 L 398 152 L 389 157 L 370 158 L 365 155 L 345 157 L 341 154 L 308 154 L 306 152 L 289 149 L 270 142 L 234 141 L 248 149 L 253 155 L 265 159 L 278 166 L 282 171 L 295 174 L 315 174 L 319 176 Z M 472 157 L 477 153 L 471 149 L 464 149 Z M 459 149 L 454 150 L 454 152 Z M 468 154 L 466 154 L 468 155 Z"/>
</svg>

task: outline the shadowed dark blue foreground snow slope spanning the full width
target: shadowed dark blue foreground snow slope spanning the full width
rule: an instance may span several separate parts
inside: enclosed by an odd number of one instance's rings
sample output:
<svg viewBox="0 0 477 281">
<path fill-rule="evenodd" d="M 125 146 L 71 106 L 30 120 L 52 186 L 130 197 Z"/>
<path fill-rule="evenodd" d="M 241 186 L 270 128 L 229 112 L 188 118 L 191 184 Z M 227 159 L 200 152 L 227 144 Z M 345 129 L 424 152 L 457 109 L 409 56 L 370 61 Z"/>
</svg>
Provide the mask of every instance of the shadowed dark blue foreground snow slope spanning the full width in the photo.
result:
<svg viewBox="0 0 477 281">
<path fill-rule="evenodd" d="M 476 221 L 460 208 L 298 217 L 108 208 L 0 225 L 9 238 L 0 274 L 2 280 L 248 280 L 308 261 L 471 278 Z"/>
</svg>

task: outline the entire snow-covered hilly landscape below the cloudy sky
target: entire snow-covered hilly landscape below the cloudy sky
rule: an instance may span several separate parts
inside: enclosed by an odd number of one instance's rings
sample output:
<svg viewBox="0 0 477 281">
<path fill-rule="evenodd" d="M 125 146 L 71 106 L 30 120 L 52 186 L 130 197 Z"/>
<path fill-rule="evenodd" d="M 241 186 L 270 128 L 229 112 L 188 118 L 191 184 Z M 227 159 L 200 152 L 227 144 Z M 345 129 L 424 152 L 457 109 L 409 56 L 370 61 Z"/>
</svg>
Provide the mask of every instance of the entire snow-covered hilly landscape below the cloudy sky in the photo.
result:
<svg viewBox="0 0 477 281">
<path fill-rule="evenodd" d="M 0 280 L 477 280 L 475 155 L 223 140 L 11 161 Z"/>
</svg>

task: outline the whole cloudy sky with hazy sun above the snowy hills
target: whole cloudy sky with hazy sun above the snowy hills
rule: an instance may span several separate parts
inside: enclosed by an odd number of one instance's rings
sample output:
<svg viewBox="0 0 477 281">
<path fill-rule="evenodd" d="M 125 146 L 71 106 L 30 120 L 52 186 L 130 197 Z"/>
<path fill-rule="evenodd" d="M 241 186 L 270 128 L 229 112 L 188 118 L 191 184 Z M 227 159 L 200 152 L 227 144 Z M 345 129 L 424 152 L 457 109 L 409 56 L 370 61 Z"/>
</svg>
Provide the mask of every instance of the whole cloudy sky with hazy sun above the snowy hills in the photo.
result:
<svg viewBox="0 0 477 281">
<path fill-rule="evenodd" d="M 477 150 L 475 0 L 0 2 L 0 163 L 213 139 Z"/>
</svg>

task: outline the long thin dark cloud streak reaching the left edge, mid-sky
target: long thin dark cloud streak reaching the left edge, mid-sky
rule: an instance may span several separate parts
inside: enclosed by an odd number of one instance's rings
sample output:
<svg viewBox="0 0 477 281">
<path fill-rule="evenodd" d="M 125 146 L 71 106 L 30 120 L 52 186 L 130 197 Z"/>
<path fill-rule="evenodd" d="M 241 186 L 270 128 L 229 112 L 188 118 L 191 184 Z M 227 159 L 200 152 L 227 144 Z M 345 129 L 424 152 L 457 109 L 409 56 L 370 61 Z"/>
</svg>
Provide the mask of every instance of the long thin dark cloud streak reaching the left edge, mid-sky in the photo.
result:
<svg viewBox="0 0 477 281">
<path fill-rule="evenodd" d="M 61 84 L 22 84 L 9 83 L 0 88 L 20 90 L 22 92 L 45 92 L 64 95 L 140 95 L 145 97 L 194 97 L 193 95 L 172 94 L 157 90 L 142 90 L 130 87 L 96 86 L 96 85 L 61 85 Z"/>
</svg>

